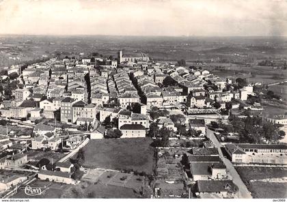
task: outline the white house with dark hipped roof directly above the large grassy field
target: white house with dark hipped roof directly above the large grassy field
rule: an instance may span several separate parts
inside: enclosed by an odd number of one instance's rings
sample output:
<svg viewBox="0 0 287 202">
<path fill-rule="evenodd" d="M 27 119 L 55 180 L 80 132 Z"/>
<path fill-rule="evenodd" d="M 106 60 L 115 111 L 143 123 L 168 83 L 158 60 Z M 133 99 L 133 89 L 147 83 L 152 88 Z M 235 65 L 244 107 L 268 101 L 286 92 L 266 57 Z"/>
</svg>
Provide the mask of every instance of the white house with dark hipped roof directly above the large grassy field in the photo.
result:
<svg viewBox="0 0 287 202">
<path fill-rule="evenodd" d="M 124 124 L 120 127 L 121 138 L 146 137 L 146 128 L 140 124 Z"/>
</svg>

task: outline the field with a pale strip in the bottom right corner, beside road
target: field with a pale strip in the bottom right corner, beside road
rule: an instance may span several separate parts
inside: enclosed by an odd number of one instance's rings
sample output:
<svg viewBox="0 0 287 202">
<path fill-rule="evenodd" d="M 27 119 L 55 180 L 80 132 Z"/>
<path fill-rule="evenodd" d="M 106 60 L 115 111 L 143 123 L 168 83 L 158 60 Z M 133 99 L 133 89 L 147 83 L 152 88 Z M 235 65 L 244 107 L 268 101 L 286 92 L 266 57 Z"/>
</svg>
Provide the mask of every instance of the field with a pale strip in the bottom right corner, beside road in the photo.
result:
<svg viewBox="0 0 287 202">
<path fill-rule="evenodd" d="M 236 167 L 254 198 L 284 199 L 287 197 L 287 182 L 279 179 L 287 177 L 287 170 L 267 167 Z"/>
</svg>

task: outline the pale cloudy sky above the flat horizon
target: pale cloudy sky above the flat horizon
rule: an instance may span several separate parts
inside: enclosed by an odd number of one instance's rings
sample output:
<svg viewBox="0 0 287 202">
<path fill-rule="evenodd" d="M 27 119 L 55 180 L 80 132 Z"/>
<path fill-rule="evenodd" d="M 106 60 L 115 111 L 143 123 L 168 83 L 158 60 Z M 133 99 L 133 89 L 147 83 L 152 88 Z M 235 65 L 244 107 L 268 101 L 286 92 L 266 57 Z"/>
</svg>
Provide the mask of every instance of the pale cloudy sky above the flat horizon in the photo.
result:
<svg viewBox="0 0 287 202">
<path fill-rule="evenodd" d="M 282 0 L 0 0 L 0 33 L 287 35 Z"/>
</svg>

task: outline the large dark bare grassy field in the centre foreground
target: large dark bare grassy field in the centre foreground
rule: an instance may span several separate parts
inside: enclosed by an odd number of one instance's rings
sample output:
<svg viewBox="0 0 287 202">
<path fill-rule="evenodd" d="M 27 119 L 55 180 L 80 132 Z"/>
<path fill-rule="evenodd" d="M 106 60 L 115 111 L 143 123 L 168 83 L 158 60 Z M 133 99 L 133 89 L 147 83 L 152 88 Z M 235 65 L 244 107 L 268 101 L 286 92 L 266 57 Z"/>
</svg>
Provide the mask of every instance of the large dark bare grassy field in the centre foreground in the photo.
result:
<svg viewBox="0 0 287 202">
<path fill-rule="evenodd" d="M 152 174 L 154 149 L 151 139 L 92 140 L 85 147 L 83 167 L 133 169 Z"/>
</svg>

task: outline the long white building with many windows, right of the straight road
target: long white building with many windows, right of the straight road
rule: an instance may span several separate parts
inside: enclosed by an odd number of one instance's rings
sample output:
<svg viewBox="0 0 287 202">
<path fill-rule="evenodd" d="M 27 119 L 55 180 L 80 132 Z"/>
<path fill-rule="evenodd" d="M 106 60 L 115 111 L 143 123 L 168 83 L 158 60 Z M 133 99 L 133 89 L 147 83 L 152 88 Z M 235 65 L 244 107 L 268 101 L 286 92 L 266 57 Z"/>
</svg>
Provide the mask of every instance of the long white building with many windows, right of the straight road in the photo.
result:
<svg viewBox="0 0 287 202">
<path fill-rule="evenodd" d="M 287 145 L 227 144 L 226 152 L 234 163 L 287 164 Z"/>
</svg>

